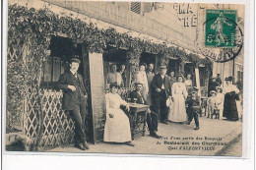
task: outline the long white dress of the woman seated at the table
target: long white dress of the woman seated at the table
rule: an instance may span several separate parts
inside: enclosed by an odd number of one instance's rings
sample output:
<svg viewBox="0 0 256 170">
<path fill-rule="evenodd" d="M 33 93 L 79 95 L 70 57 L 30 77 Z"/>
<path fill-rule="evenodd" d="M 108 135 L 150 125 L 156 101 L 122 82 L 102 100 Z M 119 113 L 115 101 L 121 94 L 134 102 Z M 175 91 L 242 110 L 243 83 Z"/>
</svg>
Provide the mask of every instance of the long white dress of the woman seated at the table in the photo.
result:
<svg viewBox="0 0 256 170">
<path fill-rule="evenodd" d="M 120 109 L 120 105 L 127 103 L 119 94 L 107 93 L 106 100 L 106 122 L 104 127 L 104 142 L 131 142 L 131 129 L 129 118 Z M 114 117 L 110 118 L 109 113 Z"/>
</svg>

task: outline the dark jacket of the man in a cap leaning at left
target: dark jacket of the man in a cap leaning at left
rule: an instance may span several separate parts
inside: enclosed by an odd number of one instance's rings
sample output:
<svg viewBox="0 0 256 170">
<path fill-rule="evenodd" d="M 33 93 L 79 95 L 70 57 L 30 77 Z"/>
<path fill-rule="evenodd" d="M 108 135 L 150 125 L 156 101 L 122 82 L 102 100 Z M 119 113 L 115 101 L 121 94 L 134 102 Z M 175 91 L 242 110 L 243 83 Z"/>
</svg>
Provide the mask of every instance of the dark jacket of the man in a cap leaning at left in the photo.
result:
<svg viewBox="0 0 256 170">
<path fill-rule="evenodd" d="M 81 75 L 77 75 L 76 78 L 70 71 L 60 76 L 59 81 L 56 84 L 57 89 L 62 89 L 62 108 L 65 110 L 74 110 L 80 107 L 81 102 L 85 104 L 87 91 Z M 68 88 L 68 85 L 76 86 L 76 90 L 72 91 Z M 78 88 L 81 87 L 81 93 Z"/>
</svg>

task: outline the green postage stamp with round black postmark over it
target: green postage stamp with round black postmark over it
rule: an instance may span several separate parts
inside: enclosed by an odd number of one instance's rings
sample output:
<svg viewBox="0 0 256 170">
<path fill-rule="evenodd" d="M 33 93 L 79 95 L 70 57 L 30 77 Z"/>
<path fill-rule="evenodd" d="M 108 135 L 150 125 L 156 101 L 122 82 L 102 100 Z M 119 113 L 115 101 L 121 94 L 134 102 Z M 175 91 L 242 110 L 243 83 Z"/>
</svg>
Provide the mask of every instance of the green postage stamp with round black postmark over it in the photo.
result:
<svg viewBox="0 0 256 170">
<path fill-rule="evenodd" d="M 206 10 L 205 48 L 201 53 L 210 60 L 233 60 L 243 48 L 243 32 L 236 23 L 234 10 Z M 219 50 L 218 50 L 219 49 Z"/>
</svg>

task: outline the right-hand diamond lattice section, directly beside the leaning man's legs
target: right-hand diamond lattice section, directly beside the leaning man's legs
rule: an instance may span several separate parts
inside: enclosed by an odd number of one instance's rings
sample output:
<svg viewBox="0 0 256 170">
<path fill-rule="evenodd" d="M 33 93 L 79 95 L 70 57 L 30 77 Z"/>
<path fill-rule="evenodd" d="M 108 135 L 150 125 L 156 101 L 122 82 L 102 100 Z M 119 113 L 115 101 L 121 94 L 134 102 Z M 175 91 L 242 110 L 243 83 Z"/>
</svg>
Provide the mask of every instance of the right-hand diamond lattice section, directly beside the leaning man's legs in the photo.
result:
<svg viewBox="0 0 256 170">
<path fill-rule="evenodd" d="M 40 146 L 54 147 L 73 142 L 74 122 L 61 109 L 62 92 L 44 89 L 42 95 L 43 137 Z"/>
</svg>

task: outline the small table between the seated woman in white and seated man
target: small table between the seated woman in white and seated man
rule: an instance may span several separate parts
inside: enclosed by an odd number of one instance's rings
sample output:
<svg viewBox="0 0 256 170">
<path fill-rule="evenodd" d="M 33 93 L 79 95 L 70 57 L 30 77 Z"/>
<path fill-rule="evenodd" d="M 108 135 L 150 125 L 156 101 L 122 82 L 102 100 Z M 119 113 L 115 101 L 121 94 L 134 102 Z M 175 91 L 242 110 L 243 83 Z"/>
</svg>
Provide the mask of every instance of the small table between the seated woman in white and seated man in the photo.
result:
<svg viewBox="0 0 256 170">
<path fill-rule="evenodd" d="M 128 103 L 130 106 L 130 122 L 131 122 L 131 132 L 132 140 L 134 140 L 135 134 L 142 134 L 145 136 L 146 132 L 146 121 L 147 121 L 147 109 L 150 108 L 149 105 Z M 141 125 L 143 125 L 141 129 Z"/>
</svg>

